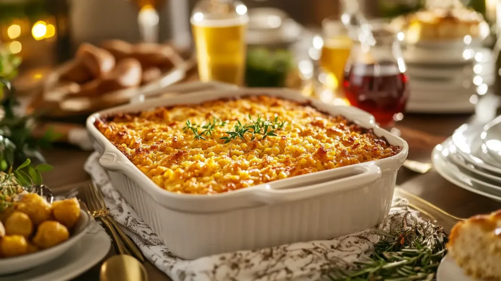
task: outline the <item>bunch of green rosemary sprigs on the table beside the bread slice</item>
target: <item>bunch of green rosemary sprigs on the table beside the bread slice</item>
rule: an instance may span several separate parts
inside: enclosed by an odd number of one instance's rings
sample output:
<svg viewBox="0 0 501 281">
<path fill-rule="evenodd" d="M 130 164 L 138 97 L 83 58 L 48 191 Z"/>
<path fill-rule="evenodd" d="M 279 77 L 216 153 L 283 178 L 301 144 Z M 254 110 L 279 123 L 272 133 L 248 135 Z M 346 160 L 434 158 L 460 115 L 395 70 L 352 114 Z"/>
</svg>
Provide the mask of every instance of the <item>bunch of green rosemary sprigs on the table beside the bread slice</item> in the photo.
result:
<svg viewBox="0 0 501 281">
<path fill-rule="evenodd" d="M 326 275 L 331 280 L 434 280 L 440 260 L 446 253 L 447 234 L 435 222 L 407 225 L 407 212 L 396 231 L 374 231 L 383 236 L 374 246 L 369 260 L 356 262 L 358 269 L 347 272 L 334 268 Z"/>
</svg>

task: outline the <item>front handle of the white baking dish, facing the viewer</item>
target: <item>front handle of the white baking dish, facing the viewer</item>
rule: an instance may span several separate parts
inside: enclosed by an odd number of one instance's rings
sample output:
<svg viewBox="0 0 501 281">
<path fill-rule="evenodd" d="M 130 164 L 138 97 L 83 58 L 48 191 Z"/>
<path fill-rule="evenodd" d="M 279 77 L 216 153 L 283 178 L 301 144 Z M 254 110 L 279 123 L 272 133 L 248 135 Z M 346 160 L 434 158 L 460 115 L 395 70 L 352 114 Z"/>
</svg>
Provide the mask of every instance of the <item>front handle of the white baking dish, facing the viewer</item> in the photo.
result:
<svg viewBox="0 0 501 281">
<path fill-rule="evenodd" d="M 262 188 L 252 190 L 256 200 L 268 204 L 296 201 L 322 196 L 334 191 L 354 189 L 367 186 L 381 178 L 381 169 L 372 162 L 360 164 L 356 169 L 343 167 L 329 171 L 329 177 L 312 183 L 296 179 L 292 182 L 279 184 L 270 183 Z M 291 178 L 293 180 L 294 178 Z M 305 186 L 306 185 L 306 186 Z M 249 189 L 250 191 L 250 189 Z"/>
</svg>

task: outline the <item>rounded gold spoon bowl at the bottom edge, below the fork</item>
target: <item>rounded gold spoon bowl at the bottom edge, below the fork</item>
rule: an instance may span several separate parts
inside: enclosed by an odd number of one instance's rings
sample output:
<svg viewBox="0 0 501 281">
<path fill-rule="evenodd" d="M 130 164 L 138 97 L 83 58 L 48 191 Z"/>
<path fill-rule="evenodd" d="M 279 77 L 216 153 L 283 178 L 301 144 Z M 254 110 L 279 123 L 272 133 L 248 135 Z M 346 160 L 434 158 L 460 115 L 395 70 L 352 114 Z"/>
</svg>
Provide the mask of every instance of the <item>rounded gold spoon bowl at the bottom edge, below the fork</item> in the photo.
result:
<svg viewBox="0 0 501 281">
<path fill-rule="evenodd" d="M 143 264 L 127 254 L 114 255 L 101 265 L 100 281 L 147 281 Z"/>
</svg>

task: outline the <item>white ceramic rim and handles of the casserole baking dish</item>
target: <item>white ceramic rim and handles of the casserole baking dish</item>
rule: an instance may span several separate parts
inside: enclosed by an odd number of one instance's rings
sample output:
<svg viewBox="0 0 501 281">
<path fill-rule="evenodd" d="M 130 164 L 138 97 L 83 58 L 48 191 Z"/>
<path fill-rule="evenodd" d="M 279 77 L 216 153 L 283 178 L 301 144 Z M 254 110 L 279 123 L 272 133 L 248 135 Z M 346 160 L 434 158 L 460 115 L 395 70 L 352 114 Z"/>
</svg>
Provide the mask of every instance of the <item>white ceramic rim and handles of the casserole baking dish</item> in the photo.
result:
<svg viewBox="0 0 501 281">
<path fill-rule="evenodd" d="M 113 113 L 138 112 L 159 106 L 198 104 L 209 100 L 249 95 L 278 96 L 299 102 L 311 102 L 312 106 L 321 111 L 344 115 L 349 120 L 354 121 L 364 128 L 373 129 L 377 136 L 386 138 L 390 144 L 401 146 L 402 151 L 385 159 L 276 180 L 267 184 L 250 186 L 231 192 L 213 195 L 178 194 L 159 188 L 157 184 L 132 164 L 132 162 L 94 126 L 94 121 L 97 118 Z M 121 172 L 127 175 L 138 183 L 144 191 L 159 204 L 169 209 L 184 212 L 206 213 L 227 211 L 235 208 L 252 207 L 256 206 L 256 204 L 262 205 L 295 201 L 321 196 L 326 193 L 339 192 L 350 188 L 363 187 L 379 179 L 382 170 L 398 169 L 405 161 L 409 149 L 407 143 L 403 139 L 380 128 L 376 125 L 374 117 L 365 111 L 355 107 L 328 105 L 320 100 L 305 97 L 299 92 L 277 88 L 239 88 L 204 91 L 147 100 L 141 104 L 119 106 L 89 116 L 87 119 L 87 129 L 97 144 L 104 150 L 103 156 L 100 159 L 101 166 L 110 171 Z"/>
</svg>

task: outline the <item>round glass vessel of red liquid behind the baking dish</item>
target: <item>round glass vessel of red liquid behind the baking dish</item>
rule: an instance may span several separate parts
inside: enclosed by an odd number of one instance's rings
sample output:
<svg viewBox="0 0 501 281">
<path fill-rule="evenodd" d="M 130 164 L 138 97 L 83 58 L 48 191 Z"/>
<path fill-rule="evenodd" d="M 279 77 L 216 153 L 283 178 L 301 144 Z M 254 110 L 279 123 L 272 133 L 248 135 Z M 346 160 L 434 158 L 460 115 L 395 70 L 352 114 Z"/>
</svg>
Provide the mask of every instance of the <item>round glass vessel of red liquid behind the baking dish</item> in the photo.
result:
<svg viewBox="0 0 501 281">
<path fill-rule="evenodd" d="M 396 36 L 386 29 L 364 29 L 353 45 L 343 89 L 352 106 L 372 114 L 382 127 L 403 118 L 409 79 Z"/>
</svg>

